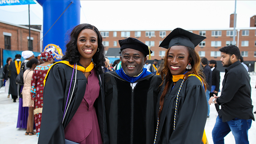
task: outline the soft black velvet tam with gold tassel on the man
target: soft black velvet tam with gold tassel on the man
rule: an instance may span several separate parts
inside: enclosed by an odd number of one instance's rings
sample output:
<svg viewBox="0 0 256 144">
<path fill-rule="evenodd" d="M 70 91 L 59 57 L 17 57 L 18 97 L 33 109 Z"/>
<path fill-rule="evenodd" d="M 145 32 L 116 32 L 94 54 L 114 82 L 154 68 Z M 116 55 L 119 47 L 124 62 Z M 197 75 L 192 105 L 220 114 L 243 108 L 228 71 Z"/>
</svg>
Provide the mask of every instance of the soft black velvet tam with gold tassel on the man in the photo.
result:
<svg viewBox="0 0 256 144">
<path fill-rule="evenodd" d="M 119 40 L 118 42 L 121 47 L 120 51 L 122 51 L 123 49 L 126 49 L 126 48 L 134 49 L 134 50 L 144 53 L 145 55 L 149 55 L 148 59 L 149 60 L 151 59 L 150 54 L 152 53 L 152 51 L 149 49 L 149 46 L 142 43 L 137 38 L 128 37 L 126 39 Z"/>
</svg>

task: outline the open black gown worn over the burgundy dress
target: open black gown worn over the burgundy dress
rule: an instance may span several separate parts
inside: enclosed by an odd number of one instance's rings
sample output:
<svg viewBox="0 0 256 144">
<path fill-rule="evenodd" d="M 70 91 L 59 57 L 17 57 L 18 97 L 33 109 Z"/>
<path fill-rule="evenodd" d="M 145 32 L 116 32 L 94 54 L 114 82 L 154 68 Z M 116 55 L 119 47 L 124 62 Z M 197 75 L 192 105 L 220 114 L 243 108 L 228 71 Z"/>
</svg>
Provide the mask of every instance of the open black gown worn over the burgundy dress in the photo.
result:
<svg viewBox="0 0 256 144">
<path fill-rule="evenodd" d="M 76 110 L 78 109 L 81 101 L 83 100 L 87 83 L 84 72 L 77 70 L 75 90 L 69 108 L 67 110 L 67 114 L 62 124 L 61 121 L 68 97 L 68 90 L 72 71 L 73 68 L 63 63 L 58 63 L 50 69 L 44 86 L 44 106 L 38 144 L 65 143 L 64 129 L 66 128 L 72 117 L 75 115 Z M 74 87 L 75 74 L 76 70 L 74 71 L 69 100 Z M 94 107 L 96 108 L 96 111 L 97 109 L 101 109 L 100 111 L 102 112 L 105 111 L 104 103 L 102 103 L 103 74 L 100 74 L 100 76 L 98 75 L 98 79 L 100 84 L 100 93 L 99 98 L 94 102 Z M 97 115 L 98 119 L 104 117 L 102 116 L 102 113 L 97 113 Z M 100 128 L 104 127 L 103 123 L 100 123 L 102 121 L 104 120 L 99 121 Z M 101 133 L 103 134 L 104 132 Z"/>
</svg>

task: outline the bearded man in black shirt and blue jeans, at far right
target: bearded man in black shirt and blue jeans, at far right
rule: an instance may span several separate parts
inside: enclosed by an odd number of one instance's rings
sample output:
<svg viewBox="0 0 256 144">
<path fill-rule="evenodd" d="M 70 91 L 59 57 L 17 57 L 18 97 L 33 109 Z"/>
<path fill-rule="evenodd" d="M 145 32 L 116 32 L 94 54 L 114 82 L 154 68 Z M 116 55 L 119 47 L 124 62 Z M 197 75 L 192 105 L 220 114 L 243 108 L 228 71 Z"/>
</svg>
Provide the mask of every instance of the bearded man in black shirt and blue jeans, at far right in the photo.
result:
<svg viewBox="0 0 256 144">
<path fill-rule="evenodd" d="M 249 144 L 248 130 L 254 120 L 250 76 L 239 61 L 237 46 L 225 46 L 219 51 L 226 69 L 220 97 L 214 94 L 208 101 L 209 104 L 221 105 L 212 129 L 212 140 L 214 144 L 224 144 L 224 137 L 231 131 L 236 144 Z"/>
</svg>

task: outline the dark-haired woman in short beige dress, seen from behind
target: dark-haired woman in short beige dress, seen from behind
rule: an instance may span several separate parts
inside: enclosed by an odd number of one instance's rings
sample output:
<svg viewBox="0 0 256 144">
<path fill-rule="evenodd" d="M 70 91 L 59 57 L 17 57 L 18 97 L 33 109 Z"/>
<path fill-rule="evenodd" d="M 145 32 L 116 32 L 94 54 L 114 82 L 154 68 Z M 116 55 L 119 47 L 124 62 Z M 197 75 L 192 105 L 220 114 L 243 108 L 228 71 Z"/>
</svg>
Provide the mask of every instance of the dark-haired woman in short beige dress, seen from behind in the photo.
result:
<svg viewBox="0 0 256 144">
<path fill-rule="evenodd" d="M 35 58 L 30 59 L 26 66 L 28 67 L 27 70 L 24 71 L 24 85 L 22 89 L 22 107 L 28 107 L 28 122 L 27 122 L 27 131 L 25 135 L 34 135 L 36 132 L 33 131 L 33 124 L 34 124 L 34 100 L 31 99 L 30 94 L 30 86 L 31 86 L 31 79 L 33 75 L 33 71 L 36 66 L 39 65 L 39 61 Z"/>
</svg>

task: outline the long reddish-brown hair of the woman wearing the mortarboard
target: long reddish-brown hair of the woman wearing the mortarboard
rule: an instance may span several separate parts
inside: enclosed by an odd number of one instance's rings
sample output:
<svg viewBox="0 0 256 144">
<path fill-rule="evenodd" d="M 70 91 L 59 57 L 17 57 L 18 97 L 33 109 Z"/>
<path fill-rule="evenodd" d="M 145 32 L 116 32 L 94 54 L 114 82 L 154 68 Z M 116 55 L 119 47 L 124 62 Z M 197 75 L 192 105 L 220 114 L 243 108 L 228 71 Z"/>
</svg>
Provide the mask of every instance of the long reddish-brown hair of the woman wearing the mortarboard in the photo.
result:
<svg viewBox="0 0 256 144">
<path fill-rule="evenodd" d="M 188 70 L 188 72 L 184 75 L 185 80 L 188 78 L 188 75 L 190 74 L 195 74 L 197 76 L 199 76 L 202 80 L 202 82 L 204 83 L 204 88 L 206 90 L 206 83 L 204 81 L 204 79 L 200 76 L 202 75 L 202 70 L 200 69 L 200 56 L 198 55 L 198 53 L 196 53 L 196 51 L 190 47 L 187 47 L 185 46 L 188 50 L 188 53 L 189 53 L 189 58 L 191 57 L 192 58 L 192 61 L 191 61 L 191 69 Z M 161 77 L 162 77 L 162 84 L 164 84 L 164 77 L 165 77 L 165 86 L 164 86 L 164 91 L 160 97 L 160 110 L 159 110 L 159 113 L 158 113 L 158 116 L 160 116 L 161 114 L 161 111 L 163 109 L 163 105 L 164 105 L 164 97 L 166 95 L 166 93 L 168 92 L 169 90 L 169 87 L 170 87 L 170 84 L 171 84 L 171 79 L 172 79 L 172 74 L 171 74 L 171 71 L 170 69 L 168 68 L 168 61 L 167 61 L 167 56 L 168 56 L 168 52 L 169 52 L 170 48 L 166 50 L 165 52 L 165 56 L 164 56 L 164 68 L 163 70 L 161 71 Z M 165 75 L 165 76 L 164 76 Z"/>
</svg>

